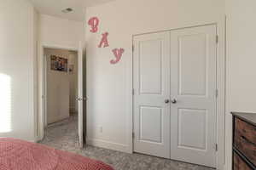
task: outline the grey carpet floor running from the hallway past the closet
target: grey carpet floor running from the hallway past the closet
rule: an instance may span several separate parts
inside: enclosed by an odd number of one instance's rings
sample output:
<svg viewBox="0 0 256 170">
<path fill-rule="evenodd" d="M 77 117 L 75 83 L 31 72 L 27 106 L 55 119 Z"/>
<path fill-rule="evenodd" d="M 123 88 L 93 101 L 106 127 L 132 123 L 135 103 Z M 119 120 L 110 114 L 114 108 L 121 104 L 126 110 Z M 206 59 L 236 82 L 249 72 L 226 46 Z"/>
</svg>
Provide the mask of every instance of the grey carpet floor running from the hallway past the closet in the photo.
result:
<svg viewBox="0 0 256 170">
<path fill-rule="evenodd" d="M 81 150 L 79 149 L 77 132 L 77 116 L 71 116 L 63 122 L 50 125 L 45 131 L 45 137 L 41 144 L 103 161 L 115 170 L 212 170 L 212 168 L 191 165 L 189 163 L 141 154 L 127 154 L 89 145 L 86 145 Z"/>
</svg>

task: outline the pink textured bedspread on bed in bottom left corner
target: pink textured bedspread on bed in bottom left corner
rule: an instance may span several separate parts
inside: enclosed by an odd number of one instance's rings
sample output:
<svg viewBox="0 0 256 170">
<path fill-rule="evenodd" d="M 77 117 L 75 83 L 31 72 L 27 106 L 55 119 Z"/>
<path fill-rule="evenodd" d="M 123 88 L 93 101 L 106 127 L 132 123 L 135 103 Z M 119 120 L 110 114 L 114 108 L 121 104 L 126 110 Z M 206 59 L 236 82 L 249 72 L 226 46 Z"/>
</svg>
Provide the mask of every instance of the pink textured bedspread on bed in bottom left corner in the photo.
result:
<svg viewBox="0 0 256 170">
<path fill-rule="evenodd" d="M 113 170 L 89 158 L 18 139 L 0 139 L 0 170 Z"/>
</svg>

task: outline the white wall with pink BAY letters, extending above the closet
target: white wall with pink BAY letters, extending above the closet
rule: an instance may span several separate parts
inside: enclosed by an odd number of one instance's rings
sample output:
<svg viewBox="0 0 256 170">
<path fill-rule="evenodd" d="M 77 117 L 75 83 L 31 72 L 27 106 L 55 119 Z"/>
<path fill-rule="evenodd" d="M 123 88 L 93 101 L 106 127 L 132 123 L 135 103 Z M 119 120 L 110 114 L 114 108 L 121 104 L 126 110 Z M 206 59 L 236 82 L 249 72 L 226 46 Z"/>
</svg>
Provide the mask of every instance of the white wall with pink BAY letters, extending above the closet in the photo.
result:
<svg viewBox="0 0 256 170">
<path fill-rule="evenodd" d="M 87 20 L 97 16 L 99 31 L 86 32 L 88 130 L 90 144 L 131 151 L 132 35 L 224 19 L 222 0 L 119 0 L 87 8 Z M 110 48 L 97 48 L 103 31 Z M 110 65 L 113 48 L 125 48 L 117 65 Z M 100 128 L 102 127 L 102 133 Z"/>
</svg>

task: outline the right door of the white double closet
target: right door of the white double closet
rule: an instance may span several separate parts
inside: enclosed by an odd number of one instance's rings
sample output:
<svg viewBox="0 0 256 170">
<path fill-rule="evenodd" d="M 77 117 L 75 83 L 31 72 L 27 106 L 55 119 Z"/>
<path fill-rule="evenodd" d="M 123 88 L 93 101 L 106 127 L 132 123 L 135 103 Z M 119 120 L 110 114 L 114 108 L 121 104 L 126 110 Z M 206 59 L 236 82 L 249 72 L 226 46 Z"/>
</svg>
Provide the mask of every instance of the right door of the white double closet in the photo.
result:
<svg viewBox="0 0 256 170">
<path fill-rule="evenodd" d="M 215 167 L 216 26 L 171 31 L 171 159 Z"/>
</svg>

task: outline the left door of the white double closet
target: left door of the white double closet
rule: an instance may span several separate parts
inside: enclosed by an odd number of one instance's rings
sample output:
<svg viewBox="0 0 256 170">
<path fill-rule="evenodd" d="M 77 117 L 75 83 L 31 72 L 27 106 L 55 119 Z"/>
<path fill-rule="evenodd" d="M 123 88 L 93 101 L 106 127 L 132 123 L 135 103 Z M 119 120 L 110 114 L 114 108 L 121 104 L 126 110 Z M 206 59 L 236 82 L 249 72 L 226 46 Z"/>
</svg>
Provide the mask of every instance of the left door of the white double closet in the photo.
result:
<svg viewBox="0 0 256 170">
<path fill-rule="evenodd" d="M 170 32 L 134 37 L 134 151 L 170 158 Z"/>
</svg>

